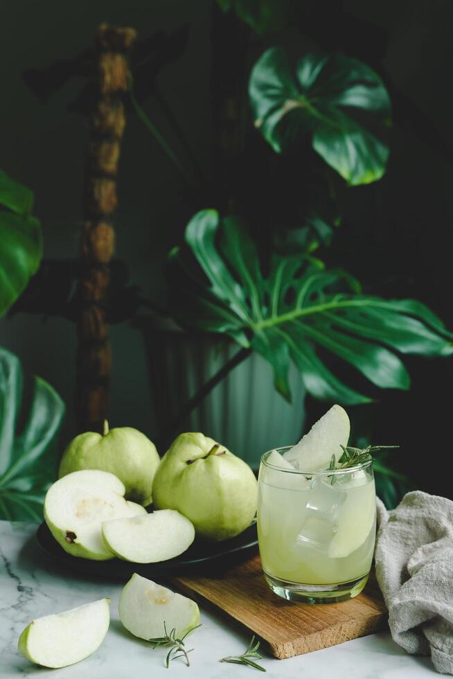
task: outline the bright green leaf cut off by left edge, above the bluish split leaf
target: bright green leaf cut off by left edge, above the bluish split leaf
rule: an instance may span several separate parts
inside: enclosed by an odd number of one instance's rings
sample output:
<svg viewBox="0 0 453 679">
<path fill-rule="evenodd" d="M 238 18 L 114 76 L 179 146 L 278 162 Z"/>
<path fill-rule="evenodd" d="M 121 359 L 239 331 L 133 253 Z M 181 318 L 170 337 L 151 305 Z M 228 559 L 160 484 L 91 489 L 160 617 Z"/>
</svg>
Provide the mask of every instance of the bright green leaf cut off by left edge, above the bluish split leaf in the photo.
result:
<svg viewBox="0 0 453 679">
<path fill-rule="evenodd" d="M 0 170 L 0 316 L 26 288 L 42 256 L 33 193 Z"/>
</svg>

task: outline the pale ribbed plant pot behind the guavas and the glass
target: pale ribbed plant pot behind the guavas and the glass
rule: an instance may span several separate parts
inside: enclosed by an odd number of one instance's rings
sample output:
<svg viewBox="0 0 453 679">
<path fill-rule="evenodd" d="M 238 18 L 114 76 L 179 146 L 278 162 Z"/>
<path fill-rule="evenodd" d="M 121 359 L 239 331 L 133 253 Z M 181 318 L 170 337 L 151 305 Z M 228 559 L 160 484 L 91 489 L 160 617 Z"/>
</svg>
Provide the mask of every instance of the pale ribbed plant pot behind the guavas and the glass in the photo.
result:
<svg viewBox="0 0 453 679">
<path fill-rule="evenodd" d="M 187 333 L 171 321 L 162 324 L 154 317 L 143 317 L 136 325 L 145 340 L 160 432 L 240 347 L 229 338 Z M 301 436 L 305 388 L 294 366 L 290 387 L 292 403 L 287 403 L 274 388 L 270 365 L 252 353 L 212 389 L 174 434 L 203 432 L 257 468 L 263 452 L 296 443 Z"/>
</svg>

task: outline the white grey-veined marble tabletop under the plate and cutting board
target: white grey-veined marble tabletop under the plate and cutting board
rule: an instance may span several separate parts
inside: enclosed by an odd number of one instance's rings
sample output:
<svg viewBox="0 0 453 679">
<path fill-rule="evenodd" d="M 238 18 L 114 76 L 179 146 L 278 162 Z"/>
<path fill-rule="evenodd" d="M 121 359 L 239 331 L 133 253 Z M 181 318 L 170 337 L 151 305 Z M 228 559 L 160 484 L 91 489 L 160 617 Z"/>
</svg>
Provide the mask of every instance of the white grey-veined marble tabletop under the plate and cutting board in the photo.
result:
<svg viewBox="0 0 453 679">
<path fill-rule="evenodd" d="M 229 679 L 261 676 L 249 667 L 217 662 L 224 655 L 242 653 L 247 635 L 230 628 L 224 619 L 201 610 L 202 627 L 190 638 L 191 665 L 176 660 L 164 666 L 165 649 L 152 650 L 132 637 L 118 620 L 121 583 L 61 572 L 35 541 L 36 524 L 0 522 L 0 678 L 39 679 Z M 87 660 L 64 669 L 43 669 L 17 652 L 17 639 L 35 617 L 111 597 L 111 623 L 100 649 Z M 438 676 L 429 658 L 416 658 L 393 643 L 389 633 L 371 635 L 330 649 L 287 660 L 265 657 L 267 677 L 286 679 L 421 679 Z"/>
</svg>

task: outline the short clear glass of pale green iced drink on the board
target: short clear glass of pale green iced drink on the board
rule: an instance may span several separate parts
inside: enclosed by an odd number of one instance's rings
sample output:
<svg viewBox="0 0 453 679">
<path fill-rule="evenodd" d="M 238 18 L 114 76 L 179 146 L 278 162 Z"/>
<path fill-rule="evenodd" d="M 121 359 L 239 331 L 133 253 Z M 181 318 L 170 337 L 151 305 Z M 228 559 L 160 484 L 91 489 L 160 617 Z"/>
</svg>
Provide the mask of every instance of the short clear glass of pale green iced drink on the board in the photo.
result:
<svg viewBox="0 0 453 679">
<path fill-rule="evenodd" d="M 258 477 L 258 544 L 269 587 L 290 601 L 356 597 L 373 560 L 373 460 L 308 473 L 270 464 L 271 452 L 261 457 Z"/>
</svg>

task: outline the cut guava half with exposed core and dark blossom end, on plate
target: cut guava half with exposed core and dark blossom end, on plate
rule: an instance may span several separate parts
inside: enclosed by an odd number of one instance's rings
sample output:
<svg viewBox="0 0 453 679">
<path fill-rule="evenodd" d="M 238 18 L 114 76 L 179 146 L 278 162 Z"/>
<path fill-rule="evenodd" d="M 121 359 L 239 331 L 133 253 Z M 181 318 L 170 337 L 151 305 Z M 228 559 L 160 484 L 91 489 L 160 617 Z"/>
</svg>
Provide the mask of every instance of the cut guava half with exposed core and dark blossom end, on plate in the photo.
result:
<svg viewBox="0 0 453 679">
<path fill-rule="evenodd" d="M 96 561 L 114 558 L 103 540 L 101 525 L 107 519 L 129 518 L 139 511 L 135 503 L 124 499 L 124 493 L 124 484 L 114 474 L 97 469 L 73 472 L 48 489 L 44 519 L 69 554 Z"/>
</svg>

